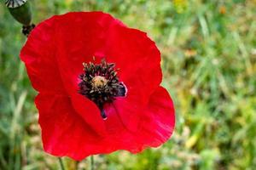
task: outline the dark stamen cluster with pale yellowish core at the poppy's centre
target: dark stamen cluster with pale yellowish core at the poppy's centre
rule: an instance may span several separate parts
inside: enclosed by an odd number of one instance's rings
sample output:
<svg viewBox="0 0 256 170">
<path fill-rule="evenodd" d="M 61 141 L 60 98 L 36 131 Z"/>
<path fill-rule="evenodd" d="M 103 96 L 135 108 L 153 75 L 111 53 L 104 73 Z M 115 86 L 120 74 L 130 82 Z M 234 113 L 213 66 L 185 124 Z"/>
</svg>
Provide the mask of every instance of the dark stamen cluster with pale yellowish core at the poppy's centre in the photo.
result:
<svg viewBox="0 0 256 170">
<path fill-rule="evenodd" d="M 107 116 L 103 105 L 112 103 L 116 97 L 125 96 L 127 89 L 124 82 L 119 82 L 113 63 L 102 59 L 101 64 L 83 63 L 84 73 L 79 76 L 79 94 L 92 100 L 101 110 L 102 118 Z"/>
</svg>

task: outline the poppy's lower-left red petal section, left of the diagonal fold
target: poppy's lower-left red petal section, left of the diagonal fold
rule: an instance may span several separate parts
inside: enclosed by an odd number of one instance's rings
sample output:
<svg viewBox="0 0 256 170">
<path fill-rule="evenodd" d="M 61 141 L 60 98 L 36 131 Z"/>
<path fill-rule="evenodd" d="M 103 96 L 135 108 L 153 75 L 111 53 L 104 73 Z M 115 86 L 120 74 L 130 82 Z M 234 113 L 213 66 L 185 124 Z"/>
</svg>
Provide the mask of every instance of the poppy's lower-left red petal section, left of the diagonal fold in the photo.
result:
<svg viewBox="0 0 256 170">
<path fill-rule="evenodd" d="M 107 139 L 98 136 L 75 113 L 70 98 L 38 94 L 35 102 L 39 111 L 44 150 L 49 154 L 82 160 L 92 154 L 113 151 L 105 147 Z"/>
</svg>

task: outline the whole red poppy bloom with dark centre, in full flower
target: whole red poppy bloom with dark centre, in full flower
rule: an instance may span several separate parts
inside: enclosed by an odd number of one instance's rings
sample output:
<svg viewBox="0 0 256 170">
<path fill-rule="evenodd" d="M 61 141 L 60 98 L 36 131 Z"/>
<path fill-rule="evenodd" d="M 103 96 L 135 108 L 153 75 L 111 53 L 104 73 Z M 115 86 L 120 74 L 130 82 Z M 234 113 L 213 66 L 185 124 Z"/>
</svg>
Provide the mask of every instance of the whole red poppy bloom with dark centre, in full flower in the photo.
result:
<svg viewBox="0 0 256 170">
<path fill-rule="evenodd" d="M 170 138 L 172 99 L 160 87 L 160 51 L 146 33 L 102 12 L 39 24 L 20 52 L 39 111 L 44 150 L 82 160 Z"/>
</svg>

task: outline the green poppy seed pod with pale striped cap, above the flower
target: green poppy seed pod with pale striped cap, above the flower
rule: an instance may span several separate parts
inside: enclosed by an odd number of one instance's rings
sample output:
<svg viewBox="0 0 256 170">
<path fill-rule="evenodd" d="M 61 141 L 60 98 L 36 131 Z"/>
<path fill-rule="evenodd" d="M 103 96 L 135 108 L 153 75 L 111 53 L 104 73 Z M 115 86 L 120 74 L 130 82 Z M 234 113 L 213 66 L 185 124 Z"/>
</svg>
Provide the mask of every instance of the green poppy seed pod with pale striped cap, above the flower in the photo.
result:
<svg viewBox="0 0 256 170">
<path fill-rule="evenodd" d="M 5 5 L 9 8 L 10 14 L 23 26 L 30 26 L 32 12 L 27 0 L 6 0 Z"/>
</svg>

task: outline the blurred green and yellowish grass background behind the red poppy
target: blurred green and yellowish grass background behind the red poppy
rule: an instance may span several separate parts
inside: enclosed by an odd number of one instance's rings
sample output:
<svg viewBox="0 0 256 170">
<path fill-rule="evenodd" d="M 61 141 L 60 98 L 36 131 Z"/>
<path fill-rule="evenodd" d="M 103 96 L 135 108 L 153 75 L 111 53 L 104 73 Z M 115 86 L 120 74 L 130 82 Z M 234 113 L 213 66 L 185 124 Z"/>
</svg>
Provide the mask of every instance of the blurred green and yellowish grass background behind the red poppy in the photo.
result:
<svg viewBox="0 0 256 170">
<path fill-rule="evenodd" d="M 177 127 L 158 149 L 96 156 L 96 169 L 256 168 L 255 0 L 32 0 L 34 22 L 102 10 L 148 32 L 160 48 L 163 86 Z M 0 169 L 59 169 L 43 152 L 35 91 L 19 53 L 26 38 L 0 3 Z M 66 158 L 68 169 L 88 161 Z"/>
</svg>

